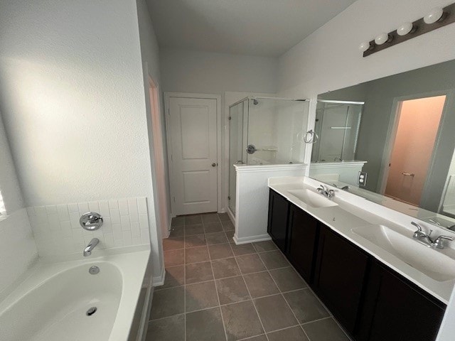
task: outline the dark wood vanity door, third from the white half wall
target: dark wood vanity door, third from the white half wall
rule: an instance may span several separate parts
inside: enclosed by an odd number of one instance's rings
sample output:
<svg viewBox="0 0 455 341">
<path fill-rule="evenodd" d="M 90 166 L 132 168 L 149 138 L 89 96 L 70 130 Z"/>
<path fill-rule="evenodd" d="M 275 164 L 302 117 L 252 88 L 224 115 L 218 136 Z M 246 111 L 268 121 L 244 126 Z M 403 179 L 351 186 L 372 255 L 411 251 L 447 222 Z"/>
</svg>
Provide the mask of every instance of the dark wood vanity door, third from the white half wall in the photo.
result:
<svg viewBox="0 0 455 341">
<path fill-rule="evenodd" d="M 355 332 L 369 259 L 363 250 L 320 224 L 314 291 L 351 334 Z"/>
</svg>

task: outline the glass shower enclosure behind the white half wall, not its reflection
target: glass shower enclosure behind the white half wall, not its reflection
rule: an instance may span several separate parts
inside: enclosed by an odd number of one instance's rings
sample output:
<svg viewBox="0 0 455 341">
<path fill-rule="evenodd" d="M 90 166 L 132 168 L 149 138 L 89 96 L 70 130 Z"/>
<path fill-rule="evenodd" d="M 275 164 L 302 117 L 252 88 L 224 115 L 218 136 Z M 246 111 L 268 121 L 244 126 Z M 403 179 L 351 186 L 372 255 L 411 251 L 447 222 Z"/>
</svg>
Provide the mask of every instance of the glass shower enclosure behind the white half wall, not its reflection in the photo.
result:
<svg viewBox="0 0 455 341">
<path fill-rule="evenodd" d="M 235 215 L 235 166 L 304 162 L 307 99 L 246 97 L 229 107 L 229 209 Z"/>
</svg>

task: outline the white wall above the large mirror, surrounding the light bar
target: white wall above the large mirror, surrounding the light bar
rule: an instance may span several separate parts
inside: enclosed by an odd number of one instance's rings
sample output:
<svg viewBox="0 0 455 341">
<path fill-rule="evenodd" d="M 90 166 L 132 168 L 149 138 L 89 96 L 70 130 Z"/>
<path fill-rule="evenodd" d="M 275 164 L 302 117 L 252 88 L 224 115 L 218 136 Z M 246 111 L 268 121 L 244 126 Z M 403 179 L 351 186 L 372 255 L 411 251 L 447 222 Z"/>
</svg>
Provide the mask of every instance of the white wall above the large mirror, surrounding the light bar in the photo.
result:
<svg viewBox="0 0 455 341">
<path fill-rule="evenodd" d="M 455 58 L 451 24 L 363 58 L 358 45 L 380 32 L 414 21 L 441 0 L 358 0 L 279 58 L 279 94 L 316 97 L 359 82 L 413 70 Z M 439 340 L 452 340 L 455 297 L 446 310 Z"/>
</svg>

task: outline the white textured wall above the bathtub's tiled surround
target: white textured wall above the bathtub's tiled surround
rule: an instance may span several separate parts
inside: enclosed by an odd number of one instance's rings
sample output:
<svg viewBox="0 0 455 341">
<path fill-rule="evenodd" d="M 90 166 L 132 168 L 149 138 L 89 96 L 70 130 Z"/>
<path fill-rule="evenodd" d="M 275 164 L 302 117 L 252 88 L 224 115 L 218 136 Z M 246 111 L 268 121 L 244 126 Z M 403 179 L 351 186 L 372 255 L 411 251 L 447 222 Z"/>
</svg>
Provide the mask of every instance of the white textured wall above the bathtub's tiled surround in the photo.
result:
<svg viewBox="0 0 455 341">
<path fill-rule="evenodd" d="M 147 197 L 156 229 L 137 15 L 134 0 L 1 2 L 0 109 L 27 205 Z"/>
</svg>

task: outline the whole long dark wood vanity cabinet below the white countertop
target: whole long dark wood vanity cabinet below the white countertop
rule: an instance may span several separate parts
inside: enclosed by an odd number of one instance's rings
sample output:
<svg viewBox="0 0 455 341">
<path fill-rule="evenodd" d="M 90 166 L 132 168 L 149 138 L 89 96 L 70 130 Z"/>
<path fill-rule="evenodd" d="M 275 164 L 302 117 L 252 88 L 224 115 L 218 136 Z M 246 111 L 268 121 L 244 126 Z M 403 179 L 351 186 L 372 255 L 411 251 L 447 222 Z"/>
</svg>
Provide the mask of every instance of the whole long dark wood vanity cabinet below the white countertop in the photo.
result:
<svg viewBox="0 0 455 341">
<path fill-rule="evenodd" d="M 436 340 L 444 303 L 273 190 L 267 231 L 353 340 Z"/>
</svg>

